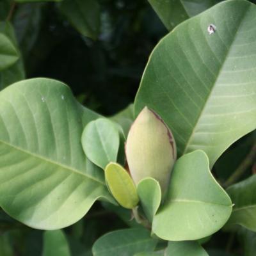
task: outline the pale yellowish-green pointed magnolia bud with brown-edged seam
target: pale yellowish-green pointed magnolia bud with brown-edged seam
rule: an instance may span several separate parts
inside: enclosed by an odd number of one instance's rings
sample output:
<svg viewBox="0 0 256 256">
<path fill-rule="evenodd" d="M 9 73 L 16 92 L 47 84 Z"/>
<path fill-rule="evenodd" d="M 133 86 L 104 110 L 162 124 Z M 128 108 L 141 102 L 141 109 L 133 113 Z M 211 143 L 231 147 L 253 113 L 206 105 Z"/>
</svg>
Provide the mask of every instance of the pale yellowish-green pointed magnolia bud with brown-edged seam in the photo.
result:
<svg viewBox="0 0 256 256">
<path fill-rule="evenodd" d="M 145 107 L 131 126 L 125 154 L 132 179 L 156 179 L 166 192 L 170 173 L 176 160 L 176 145 L 172 132 L 163 120 Z"/>
</svg>

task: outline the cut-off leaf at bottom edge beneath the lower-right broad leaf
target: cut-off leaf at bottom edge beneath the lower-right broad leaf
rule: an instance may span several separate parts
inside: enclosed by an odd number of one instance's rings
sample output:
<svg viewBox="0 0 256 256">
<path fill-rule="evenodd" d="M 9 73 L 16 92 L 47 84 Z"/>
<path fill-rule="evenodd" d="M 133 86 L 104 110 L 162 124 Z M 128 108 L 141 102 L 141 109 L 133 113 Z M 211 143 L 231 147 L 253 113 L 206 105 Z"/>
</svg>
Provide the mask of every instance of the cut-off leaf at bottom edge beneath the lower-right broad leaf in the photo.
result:
<svg viewBox="0 0 256 256">
<path fill-rule="evenodd" d="M 166 256 L 207 256 L 204 248 L 200 246 L 196 241 L 179 241 L 169 242 L 166 249 Z"/>
</svg>

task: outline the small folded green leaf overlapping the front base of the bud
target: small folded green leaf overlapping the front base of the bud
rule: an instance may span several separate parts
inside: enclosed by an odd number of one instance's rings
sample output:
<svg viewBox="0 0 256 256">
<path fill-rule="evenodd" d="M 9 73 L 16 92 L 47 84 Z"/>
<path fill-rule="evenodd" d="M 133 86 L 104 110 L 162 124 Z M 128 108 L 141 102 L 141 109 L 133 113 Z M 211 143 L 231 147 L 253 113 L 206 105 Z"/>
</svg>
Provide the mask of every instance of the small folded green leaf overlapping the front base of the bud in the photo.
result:
<svg viewBox="0 0 256 256">
<path fill-rule="evenodd" d="M 137 187 L 143 210 L 150 222 L 161 204 L 161 188 L 159 182 L 152 178 L 146 178 L 140 181 Z"/>
</svg>

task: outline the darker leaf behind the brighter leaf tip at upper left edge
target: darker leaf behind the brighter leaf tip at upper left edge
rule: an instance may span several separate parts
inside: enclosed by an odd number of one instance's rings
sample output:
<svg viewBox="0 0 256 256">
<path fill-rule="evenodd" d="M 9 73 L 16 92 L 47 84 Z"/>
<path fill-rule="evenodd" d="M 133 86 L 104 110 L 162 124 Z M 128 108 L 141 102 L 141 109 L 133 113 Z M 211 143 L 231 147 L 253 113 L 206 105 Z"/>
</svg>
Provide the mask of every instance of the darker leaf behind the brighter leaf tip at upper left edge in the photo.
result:
<svg viewBox="0 0 256 256">
<path fill-rule="evenodd" d="M 12 24 L 10 24 L 10 22 L 0 22 L 0 32 L 8 36 L 13 45 L 15 45 L 17 52 L 19 52 L 19 47 L 17 45 Z M 0 90 L 23 79 L 25 79 L 24 65 L 22 59 L 20 58 L 19 52 L 19 60 L 16 61 L 11 67 L 0 72 Z"/>
</svg>

